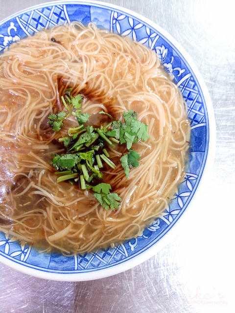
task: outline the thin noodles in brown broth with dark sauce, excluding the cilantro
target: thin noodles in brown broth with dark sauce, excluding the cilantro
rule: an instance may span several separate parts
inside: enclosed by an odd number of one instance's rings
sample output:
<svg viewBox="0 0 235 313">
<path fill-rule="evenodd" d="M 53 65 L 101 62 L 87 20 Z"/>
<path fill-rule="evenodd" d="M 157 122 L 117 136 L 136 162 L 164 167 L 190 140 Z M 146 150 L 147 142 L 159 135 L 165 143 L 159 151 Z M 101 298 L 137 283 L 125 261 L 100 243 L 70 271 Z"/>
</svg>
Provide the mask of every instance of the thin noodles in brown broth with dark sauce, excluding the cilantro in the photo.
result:
<svg viewBox="0 0 235 313">
<path fill-rule="evenodd" d="M 115 169 L 103 180 L 121 198 L 105 210 L 94 195 L 57 183 L 50 162 L 76 119 L 54 132 L 48 115 L 64 110 L 63 92 L 82 94 L 89 123 L 123 121 L 134 110 L 149 139 L 133 144 L 140 165 L 126 178 L 123 149 L 109 147 Z M 64 254 L 114 246 L 140 235 L 184 179 L 189 121 L 182 95 L 149 48 L 77 22 L 25 38 L 0 56 L 0 230 L 37 248 Z"/>
</svg>

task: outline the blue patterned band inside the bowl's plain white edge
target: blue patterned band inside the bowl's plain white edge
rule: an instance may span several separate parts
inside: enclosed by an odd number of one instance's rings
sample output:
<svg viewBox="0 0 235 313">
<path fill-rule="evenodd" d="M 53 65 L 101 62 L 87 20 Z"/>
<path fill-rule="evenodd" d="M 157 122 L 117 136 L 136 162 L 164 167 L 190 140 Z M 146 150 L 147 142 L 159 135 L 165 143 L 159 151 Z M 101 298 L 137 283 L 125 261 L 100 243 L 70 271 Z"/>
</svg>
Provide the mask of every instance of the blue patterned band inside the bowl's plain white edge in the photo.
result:
<svg viewBox="0 0 235 313">
<path fill-rule="evenodd" d="M 100 249 L 96 253 L 65 257 L 57 253 L 40 254 L 32 246 L 21 246 L 0 232 L 1 256 L 25 267 L 50 273 L 81 273 L 112 267 L 134 258 L 157 243 L 187 208 L 200 181 L 209 145 L 206 104 L 196 76 L 185 58 L 160 31 L 132 16 L 131 13 L 126 14 L 121 9 L 114 10 L 108 5 L 90 2 L 59 1 L 39 5 L 20 12 L 0 24 L 0 51 L 43 28 L 47 29 L 74 20 L 84 24 L 95 22 L 99 27 L 121 36 L 128 36 L 156 51 L 166 71 L 181 89 L 188 105 L 191 119 L 191 149 L 187 175 L 180 185 L 178 194 L 161 216 L 152 225 L 146 227 L 138 238 L 114 248 Z"/>
</svg>

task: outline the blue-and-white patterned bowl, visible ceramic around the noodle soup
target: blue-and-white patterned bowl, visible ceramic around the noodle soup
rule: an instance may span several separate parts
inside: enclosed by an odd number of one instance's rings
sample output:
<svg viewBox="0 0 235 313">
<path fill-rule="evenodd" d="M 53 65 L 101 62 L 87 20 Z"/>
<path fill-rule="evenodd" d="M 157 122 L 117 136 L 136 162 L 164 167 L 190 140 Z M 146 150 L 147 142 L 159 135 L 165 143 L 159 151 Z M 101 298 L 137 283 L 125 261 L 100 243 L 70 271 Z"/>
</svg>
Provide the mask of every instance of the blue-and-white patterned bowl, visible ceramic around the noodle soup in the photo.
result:
<svg viewBox="0 0 235 313">
<path fill-rule="evenodd" d="M 172 232 L 172 227 L 179 223 L 179 219 L 182 220 L 188 206 L 192 206 L 192 202 L 198 198 L 199 182 L 201 186 L 201 180 L 213 162 L 215 146 L 211 100 L 198 70 L 173 38 L 139 14 L 113 4 L 86 0 L 45 3 L 21 11 L 0 23 L 0 51 L 43 28 L 74 20 L 84 24 L 94 22 L 98 27 L 128 36 L 156 51 L 188 104 L 191 150 L 187 175 L 178 194 L 161 217 L 136 239 L 115 248 L 100 249 L 97 253 L 65 257 L 57 253 L 38 253 L 32 246 L 21 246 L 0 232 L 2 263 L 29 275 L 61 281 L 110 276 L 140 264 L 155 254 L 167 243 L 168 233 Z"/>
</svg>

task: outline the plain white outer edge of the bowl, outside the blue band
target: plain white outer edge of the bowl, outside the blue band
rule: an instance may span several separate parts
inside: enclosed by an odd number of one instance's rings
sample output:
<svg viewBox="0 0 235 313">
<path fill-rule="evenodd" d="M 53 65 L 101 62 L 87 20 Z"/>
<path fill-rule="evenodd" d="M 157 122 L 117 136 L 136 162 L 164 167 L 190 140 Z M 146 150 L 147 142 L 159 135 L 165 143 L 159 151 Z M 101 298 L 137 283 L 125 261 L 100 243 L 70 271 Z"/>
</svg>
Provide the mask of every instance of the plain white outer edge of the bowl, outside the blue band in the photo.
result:
<svg viewBox="0 0 235 313">
<path fill-rule="evenodd" d="M 196 190 L 194 191 L 194 195 L 192 199 L 190 200 L 190 204 L 187 206 L 187 209 L 183 212 L 183 214 L 180 216 L 180 218 L 176 221 L 177 223 L 174 223 L 169 229 L 167 229 L 166 232 L 164 232 L 164 235 L 161 236 L 161 238 L 152 246 L 148 247 L 146 250 L 142 251 L 138 255 L 132 257 L 129 260 L 126 260 L 125 262 L 117 265 L 113 265 L 109 268 L 100 268 L 96 269 L 94 271 L 90 272 L 78 272 L 78 273 L 56 273 L 56 272 L 50 272 L 46 269 L 40 269 L 40 268 L 29 268 L 24 265 L 22 262 L 15 262 L 14 260 L 10 260 L 2 255 L 0 255 L 0 262 L 7 265 L 10 268 L 16 269 L 24 274 L 28 274 L 34 277 L 43 278 L 43 279 L 49 279 L 49 280 L 56 280 L 56 281 L 89 281 L 89 280 L 95 280 L 100 278 L 109 277 L 118 273 L 121 273 L 125 270 L 128 270 L 130 268 L 133 268 L 142 262 L 146 261 L 147 259 L 154 256 L 157 252 L 159 252 L 164 246 L 166 246 L 173 235 L 176 235 L 177 232 L 179 232 L 182 229 L 183 223 L 185 224 L 187 220 L 189 220 L 190 215 L 189 211 L 192 212 L 193 207 L 196 209 L 199 197 L 200 201 L 202 200 L 202 197 L 206 197 L 206 192 L 204 188 L 208 183 L 210 179 L 210 173 L 212 171 L 213 167 L 213 161 L 215 156 L 215 143 L 216 143 L 216 127 L 215 127 L 215 119 L 214 119 L 214 113 L 213 113 L 213 107 L 211 98 L 209 95 L 209 91 L 206 87 L 206 84 L 192 61 L 191 57 L 188 55 L 188 52 L 167 32 L 165 31 L 161 26 L 159 26 L 157 23 L 149 20 L 148 18 L 145 18 L 141 14 L 132 11 L 130 9 L 127 9 L 125 7 L 121 7 L 116 4 L 112 4 L 109 2 L 102 2 L 102 1 L 96 1 L 96 0 L 58 0 L 58 1 L 49 1 L 42 4 L 30 6 L 24 10 L 18 11 L 9 17 L 5 18 L 4 20 L 0 21 L 0 24 L 3 24 L 20 14 L 24 14 L 28 11 L 39 9 L 42 7 L 47 7 L 50 5 L 56 5 L 56 4 L 76 4 L 76 5 L 96 5 L 100 7 L 105 8 L 112 8 L 115 10 L 118 10 L 120 12 L 124 12 L 126 15 L 134 16 L 135 18 L 141 20 L 144 24 L 151 25 L 152 28 L 156 29 L 161 35 L 164 36 L 164 38 L 170 42 L 170 44 L 174 45 L 175 48 L 180 52 L 180 54 L 187 60 L 188 66 L 190 67 L 191 71 L 194 73 L 198 85 L 200 86 L 201 92 L 203 94 L 207 114 L 208 114 L 208 130 L 209 130 L 209 145 L 208 145 L 208 152 L 207 157 L 205 160 L 205 165 L 203 172 L 201 174 L 200 183 L 198 183 Z M 204 190 L 204 192 L 203 192 Z"/>
</svg>

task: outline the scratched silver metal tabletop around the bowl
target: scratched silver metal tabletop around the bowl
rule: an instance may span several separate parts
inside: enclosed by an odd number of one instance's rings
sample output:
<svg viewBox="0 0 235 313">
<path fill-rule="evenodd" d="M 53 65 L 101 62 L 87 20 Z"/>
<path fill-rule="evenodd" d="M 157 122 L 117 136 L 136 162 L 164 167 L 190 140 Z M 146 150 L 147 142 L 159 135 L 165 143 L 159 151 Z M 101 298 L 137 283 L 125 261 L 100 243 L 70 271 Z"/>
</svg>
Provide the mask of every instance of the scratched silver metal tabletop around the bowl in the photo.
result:
<svg viewBox="0 0 235 313">
<path fill-rule="evenodd" d="M 0 0 L 0 20 L 44 0 Z M 217 144 L 201 203 L 141 265 L 89 282 L 54 282 L 0 264 L 0 312 L 235 312 L 235 17 L 233 1 L 109 0 L 162 26 L 188 52 L 213 103 Z"/>
</svg>

